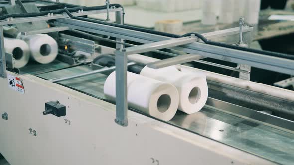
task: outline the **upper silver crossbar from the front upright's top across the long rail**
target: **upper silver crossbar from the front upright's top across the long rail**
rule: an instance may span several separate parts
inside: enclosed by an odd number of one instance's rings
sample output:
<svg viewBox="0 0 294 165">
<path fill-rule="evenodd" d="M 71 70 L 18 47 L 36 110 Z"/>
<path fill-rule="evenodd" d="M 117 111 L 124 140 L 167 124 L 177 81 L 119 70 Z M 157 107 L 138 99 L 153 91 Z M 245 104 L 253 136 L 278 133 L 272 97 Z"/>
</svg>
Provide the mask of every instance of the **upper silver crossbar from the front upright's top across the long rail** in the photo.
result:
<svg viewBox="0 0 294 165">
<path fill-rule="evenodd" d="M 133 46 L 133 47 L 126 48 L 122 51 L 126 52 L 127 55 L 136 54 L 136 53 L 144 53 L 144 52 L 149 52 L 152 50 L 158 50 L 163 48 L 170 48 L 170 47 L 175 47 L 179 45 L 190 44 L 190 43 L 196 42 L 196 39 L 197 39 L 196 37 L 176 38 L 176 39 L 153 42 L 153 43 L 139 45 L 139 46 Z"/>
</svg>

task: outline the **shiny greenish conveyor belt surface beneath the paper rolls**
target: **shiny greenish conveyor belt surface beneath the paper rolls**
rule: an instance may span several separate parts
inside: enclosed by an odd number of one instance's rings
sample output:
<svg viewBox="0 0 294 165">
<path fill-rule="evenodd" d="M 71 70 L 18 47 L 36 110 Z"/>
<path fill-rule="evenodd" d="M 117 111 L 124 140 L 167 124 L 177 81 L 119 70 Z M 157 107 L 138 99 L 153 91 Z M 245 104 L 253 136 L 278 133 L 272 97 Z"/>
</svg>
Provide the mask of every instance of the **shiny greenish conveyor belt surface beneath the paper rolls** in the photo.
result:
<svg viewBox="0 0 294 165">
<path fill-rule="evenodd" d="M 85 65 L 37 76 L 52 79 L 89 71 L 92 71 L 91 68 Z M 58 83 L 104 99 L 103 85 L 106 78 L 106 75 L 95 74 Z M 228 108 L 234 106 L 228 105 Z M 200 112 L 191 115 L 179 111 L 168 123 L 279 164 L 294 162 L 294 133 L 273 128 L 266 122 L 252 121 L 206 105 Z"/>
</svg>

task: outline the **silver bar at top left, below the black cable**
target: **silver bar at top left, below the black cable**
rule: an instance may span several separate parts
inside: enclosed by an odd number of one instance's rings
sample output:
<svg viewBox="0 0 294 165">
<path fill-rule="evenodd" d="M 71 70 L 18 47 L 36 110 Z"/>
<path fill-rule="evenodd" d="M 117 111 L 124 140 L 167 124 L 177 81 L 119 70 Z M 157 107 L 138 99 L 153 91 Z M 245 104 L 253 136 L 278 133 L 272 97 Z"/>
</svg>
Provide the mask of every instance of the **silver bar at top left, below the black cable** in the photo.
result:
<svg viewBox="0 0 294 165">
<path fill-rule="evenodd" d="M 109 12 L 122 11 L 122 8 L 109 9 Z M 94 11 L 84 11 L 72 13 L 73 16 L 85 16 L 91 14 L 101 14 L 106 13 L 106 9 L 104 10 L 94 10 Z M 52 19 L 61 19 L 66 18 L 65 14 L 56 14 L 56 15 L 45 15 L 45 16 L 37 16 L 37 17 L 28 17 L 28 18 L 13 18 L 12 20 L 4 20 L 0 21 L 0 25 L 9 25 L 9 24 L 17 24 L 17 23 L 26 23 L 26 22 L 36 22 L 36 21 L 44 21 L 44 20 L 52 20 Z"/>
</svg>

